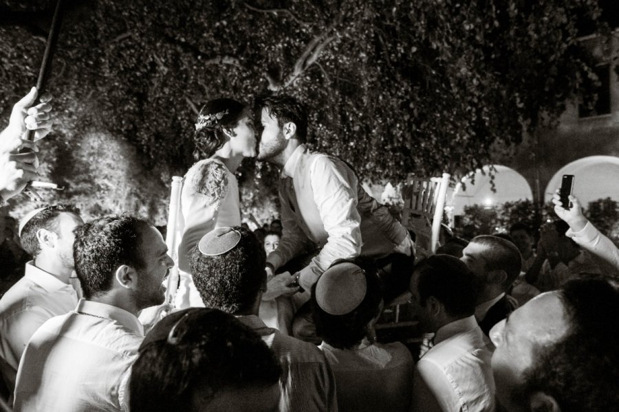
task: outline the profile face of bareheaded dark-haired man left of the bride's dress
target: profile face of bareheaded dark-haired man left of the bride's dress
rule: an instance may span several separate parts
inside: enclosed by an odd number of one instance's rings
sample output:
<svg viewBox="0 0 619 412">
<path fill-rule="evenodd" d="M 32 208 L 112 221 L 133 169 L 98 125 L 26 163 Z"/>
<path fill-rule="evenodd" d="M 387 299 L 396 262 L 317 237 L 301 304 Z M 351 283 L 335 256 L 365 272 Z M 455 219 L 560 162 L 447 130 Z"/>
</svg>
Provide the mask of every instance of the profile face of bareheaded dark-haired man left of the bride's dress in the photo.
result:
<svg viewBox="0 0 619 412">
<path fill-rule="evenodd" d="M 138 271 L 138 284 L 134 295 L 138 307 L 149 308 L 164 302 L 163 281 L 169 269 L 174 266 L 174 261 L 167 252 L 168 247 L 155 227 L 142 228 L 140 255 L 144 268 Z"/>
</svg>

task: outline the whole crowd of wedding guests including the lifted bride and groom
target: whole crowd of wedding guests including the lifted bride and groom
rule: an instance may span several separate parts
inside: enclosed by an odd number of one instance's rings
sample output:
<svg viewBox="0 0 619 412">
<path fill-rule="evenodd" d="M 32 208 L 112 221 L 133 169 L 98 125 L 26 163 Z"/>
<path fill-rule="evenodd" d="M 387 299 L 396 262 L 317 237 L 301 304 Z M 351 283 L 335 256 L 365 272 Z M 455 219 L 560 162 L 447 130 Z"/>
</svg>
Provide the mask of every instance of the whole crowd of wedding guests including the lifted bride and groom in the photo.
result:
<svg viewBox="0 0 619 412">
<path fill-rule="evenodd" d="M 52 127 L 50 96 L 35 104 L 36 94 L 0 135 L 2 202 L 36 179 L 36 140 Z M 57 204 L 26 214 L 17 236 L 32 260 L 0 299 L 0 407 L 615 410 L 619 250 L 576 197 L 567 207 L 554 196 L 558 219 L 536 247 L 521 224 L 470 240 L 445 228 L 421 258 L 417 233 L 345 161 L 310 150 L 307 128 L 289 95 L 202 107 L 177 262 L 131 213 L 84 222 Z M 254 156 L 281 168 L 281 221 L 251 231 L 235 171 Z M 402 298 L 421 347 L 376 338 L 382 311 Z"/>
</svg>

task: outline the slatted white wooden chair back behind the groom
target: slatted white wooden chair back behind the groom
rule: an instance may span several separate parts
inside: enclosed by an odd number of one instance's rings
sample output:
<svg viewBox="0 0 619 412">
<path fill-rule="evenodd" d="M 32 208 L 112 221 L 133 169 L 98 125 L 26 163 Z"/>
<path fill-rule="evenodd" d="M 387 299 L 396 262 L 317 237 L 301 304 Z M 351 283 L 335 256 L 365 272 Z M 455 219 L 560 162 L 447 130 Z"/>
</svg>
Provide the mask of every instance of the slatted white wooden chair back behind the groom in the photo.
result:
<svg viewBox="0 0 619 412">
<path fill-rule="evenodd" d="M 449 177 L 448 173 L 430 178 L 411 176 L 402 188 L 402 225 L 415 232 L 415 243 L 428 254 L 436 253 L 439 246 Z"/>
</svg>

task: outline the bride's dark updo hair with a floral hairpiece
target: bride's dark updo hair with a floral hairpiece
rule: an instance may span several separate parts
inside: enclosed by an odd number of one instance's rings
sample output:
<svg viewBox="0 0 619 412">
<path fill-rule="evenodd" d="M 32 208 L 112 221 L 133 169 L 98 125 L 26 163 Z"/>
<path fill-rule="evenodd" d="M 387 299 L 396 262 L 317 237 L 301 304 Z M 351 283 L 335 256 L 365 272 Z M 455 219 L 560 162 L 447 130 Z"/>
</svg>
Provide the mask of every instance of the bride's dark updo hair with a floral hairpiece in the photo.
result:
<svg viewBox="0 0 619 412">
<path fill-rule="evenodd" d="M 210 100 L 202 106 L 193 135 L 195 161 L 208 159 L 224 146 L 227 139 L 223 129 L 237 127 L 244 109 L 241 102 L 226 98 Z"/>
</svg>

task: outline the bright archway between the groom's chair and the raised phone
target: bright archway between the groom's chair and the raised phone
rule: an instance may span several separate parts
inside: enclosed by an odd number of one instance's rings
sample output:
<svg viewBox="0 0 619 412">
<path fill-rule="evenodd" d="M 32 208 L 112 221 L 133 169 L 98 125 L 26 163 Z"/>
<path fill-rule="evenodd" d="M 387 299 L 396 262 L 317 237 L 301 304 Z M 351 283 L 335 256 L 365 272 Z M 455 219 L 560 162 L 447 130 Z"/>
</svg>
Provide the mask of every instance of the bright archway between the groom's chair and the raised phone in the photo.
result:
<svg viewBox="0 0 619 412">
<path fill-rule="evenodd" d="M 461 180 L 453 195 L 453 214 L 464 214 L 464 207 L 471 205 L 498 205 L 505 202 L 532 200 L 533 193 L 526 179 L 516 170 L 503 165 L 492 165 L 495 169 L 495 189 L 490 184 L 490 165 L 471 172 Z M 475 184 L 472 183 L 473 176 Z M 448 198 L 449 198 L 448 194 Z"/>
</svg>

